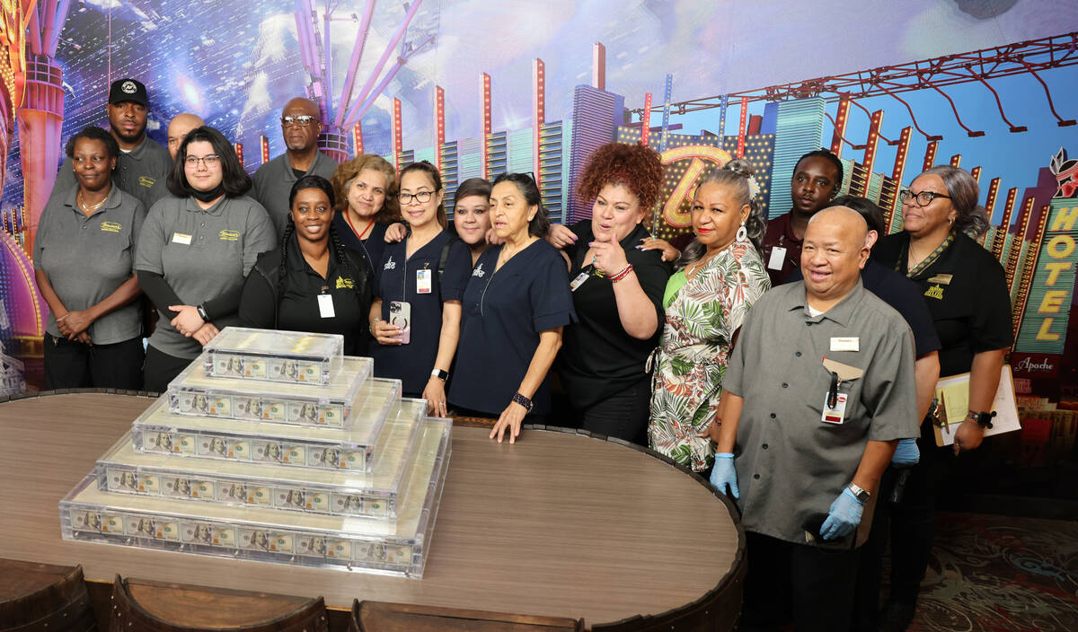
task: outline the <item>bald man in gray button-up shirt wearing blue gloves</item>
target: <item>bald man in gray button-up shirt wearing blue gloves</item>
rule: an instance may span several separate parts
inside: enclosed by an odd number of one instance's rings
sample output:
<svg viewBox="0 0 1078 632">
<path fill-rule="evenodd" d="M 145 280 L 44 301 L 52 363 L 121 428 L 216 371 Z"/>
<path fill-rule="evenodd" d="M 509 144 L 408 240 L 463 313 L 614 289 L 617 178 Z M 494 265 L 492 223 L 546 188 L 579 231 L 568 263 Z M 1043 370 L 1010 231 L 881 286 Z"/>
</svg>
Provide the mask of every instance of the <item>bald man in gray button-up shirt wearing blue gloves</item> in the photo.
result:
<svg viewBox="0 0 1078 632">
<path fill-rule="evenodd" d="M 738 630 L 848 629 L 863 508 L 898 441 L 918 434 L 913 337 L 861 285 L 868 256 L 859 213 L 817 212 L 804 281 L 764 294 L 731 353 L 711 482 L 747 532 Z"/>
</svg>

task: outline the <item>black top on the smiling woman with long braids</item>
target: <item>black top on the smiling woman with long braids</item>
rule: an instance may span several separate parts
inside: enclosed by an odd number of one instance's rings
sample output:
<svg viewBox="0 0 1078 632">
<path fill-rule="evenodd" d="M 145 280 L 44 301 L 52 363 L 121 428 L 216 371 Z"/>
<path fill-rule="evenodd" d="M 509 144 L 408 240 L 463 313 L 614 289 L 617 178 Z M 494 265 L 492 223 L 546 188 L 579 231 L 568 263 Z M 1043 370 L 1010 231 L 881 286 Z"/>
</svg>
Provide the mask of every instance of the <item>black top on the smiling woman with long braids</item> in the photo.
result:
<svg viewBox="0 0 1078 632">
<path fill-rule="evenodd" d="M 266 329 L 341 334 L 344 336 L 346 355 L 365 353 L 370 340 L 367 324 L 371 311 L 370 284 L 356 279 L 356 276 L 365 276 L 367 270 L 342 269 L 337 263 L 336 249 L 330 243 L 330 261 L 323 279 L 303 258 L 294 233 L 286 250 L 288 258 L 285 263 L 285 276 L 280 278 L 280 303 L 274 305 L 278 294 L 259 272 L 258 268 L 263 263 L 260 259 L 244 284 L 244 294 L 239 300 L 240 324 Z M 271 251 L 263 255 L 271 256 L 274 261 L 279 261 L 277 252 Z M 358 253 L 356 258 L 360 258 Z M 333 315 L 322 317 L 318 306 L 320 294 L 329 294 L 333 298 Z"/>
</svg>

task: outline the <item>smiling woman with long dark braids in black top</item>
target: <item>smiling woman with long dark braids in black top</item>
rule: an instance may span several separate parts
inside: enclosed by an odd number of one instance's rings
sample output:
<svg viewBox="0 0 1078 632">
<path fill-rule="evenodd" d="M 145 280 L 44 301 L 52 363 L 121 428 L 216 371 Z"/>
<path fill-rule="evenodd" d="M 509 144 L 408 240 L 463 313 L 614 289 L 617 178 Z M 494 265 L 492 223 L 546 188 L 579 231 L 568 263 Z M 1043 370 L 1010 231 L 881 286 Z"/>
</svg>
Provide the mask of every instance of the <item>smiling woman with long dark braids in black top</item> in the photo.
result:
<svg viewBox="0 0 1078 632">
<path fill-rule="evenodd" d="M 320 175 L 295 181 L 291 221 L 280 247 L 259 257 L 239 299 L 245 326 L 344 336 L 344 352 L 370 341 L 370 273 L 362 253 L 341 244 L 333 226 L 333 186 Z"/>
</svg>

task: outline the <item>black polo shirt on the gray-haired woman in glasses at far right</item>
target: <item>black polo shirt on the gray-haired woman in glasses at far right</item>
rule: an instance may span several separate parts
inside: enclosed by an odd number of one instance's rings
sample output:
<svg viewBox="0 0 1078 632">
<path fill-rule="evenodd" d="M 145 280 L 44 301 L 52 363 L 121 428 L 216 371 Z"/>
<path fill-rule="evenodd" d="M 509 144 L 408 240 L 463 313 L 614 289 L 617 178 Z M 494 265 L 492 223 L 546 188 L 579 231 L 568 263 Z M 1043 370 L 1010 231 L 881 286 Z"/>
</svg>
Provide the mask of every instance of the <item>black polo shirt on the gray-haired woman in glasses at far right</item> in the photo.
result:
<svg viewBox="0 0 1078 632">
<path fill-rule="evenodd" d="M 906 231 L 888 235 L 872 249 L 872 258 L 904 272 L 910 249 Z M 968 373 L 973 355 L 1009 347 L 1010 292 L 1003 266 L 963 233 L 913 281 L 932 315 L 940 339 L 940 376 Z"/>
</svg>

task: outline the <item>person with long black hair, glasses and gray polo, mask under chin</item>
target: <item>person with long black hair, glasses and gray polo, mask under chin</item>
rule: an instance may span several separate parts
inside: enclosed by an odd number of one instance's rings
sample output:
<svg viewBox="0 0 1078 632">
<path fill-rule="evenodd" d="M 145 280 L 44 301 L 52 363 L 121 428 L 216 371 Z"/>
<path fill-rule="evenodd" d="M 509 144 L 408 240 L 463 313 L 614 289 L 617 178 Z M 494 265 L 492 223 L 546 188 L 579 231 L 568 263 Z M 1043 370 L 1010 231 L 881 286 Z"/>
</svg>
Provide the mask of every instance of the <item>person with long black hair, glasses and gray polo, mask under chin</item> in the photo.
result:
<svg viewBox="0 0 1078 632">
<path fill-rule="evenodd" d="M 218 329 L 238 323 L 244 278 L 276 242 L 265 209 L 246 197 L 251 179 L 220 131 L 188 134 L 139 236 L 139 285 L 161 313 L 143 377 L 162 392 Z"/>
</svg>

